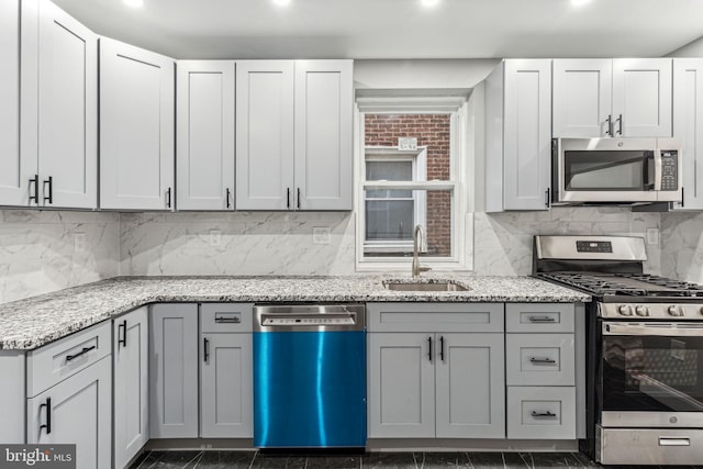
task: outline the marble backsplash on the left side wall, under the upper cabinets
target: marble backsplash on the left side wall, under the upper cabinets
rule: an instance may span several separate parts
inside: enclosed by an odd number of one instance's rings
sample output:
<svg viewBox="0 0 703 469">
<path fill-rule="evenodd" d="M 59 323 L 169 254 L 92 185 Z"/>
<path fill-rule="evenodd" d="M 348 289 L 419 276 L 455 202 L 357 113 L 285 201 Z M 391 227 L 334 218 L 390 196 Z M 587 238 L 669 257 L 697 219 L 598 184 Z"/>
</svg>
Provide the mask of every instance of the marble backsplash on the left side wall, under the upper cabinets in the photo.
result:
<svg viewBox="0 0 703 469">
<path fill-rule="evenodd" d="M 119 275 L 120 215 L 0 211 L 0 303 Z"/>
</svg>

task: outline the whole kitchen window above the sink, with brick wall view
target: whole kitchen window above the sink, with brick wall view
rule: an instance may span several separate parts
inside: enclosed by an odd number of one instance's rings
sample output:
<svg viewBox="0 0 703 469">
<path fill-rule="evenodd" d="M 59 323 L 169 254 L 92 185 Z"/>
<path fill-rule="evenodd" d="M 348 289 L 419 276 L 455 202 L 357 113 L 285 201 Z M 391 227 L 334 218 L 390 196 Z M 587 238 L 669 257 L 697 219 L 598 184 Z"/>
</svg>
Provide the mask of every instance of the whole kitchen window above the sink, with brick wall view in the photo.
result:
<svg viewBox="0 0 703 469">
<path fill-rule="evenodd" d="M 468 269 L 467 206 L 462 146 L 464 101 L 450 110 L 399 112 L 398 107 L 359 107 L 357 268 L 401 270 L 410 266 L 413 231 L 422 225 L 423 265 Z M 388 101 L 383 101 L 388 104 Z M 411 138 L 416 145 L 402 145 Z M 405 144 L 405 142 L 403 142 Z"/>
</svg>

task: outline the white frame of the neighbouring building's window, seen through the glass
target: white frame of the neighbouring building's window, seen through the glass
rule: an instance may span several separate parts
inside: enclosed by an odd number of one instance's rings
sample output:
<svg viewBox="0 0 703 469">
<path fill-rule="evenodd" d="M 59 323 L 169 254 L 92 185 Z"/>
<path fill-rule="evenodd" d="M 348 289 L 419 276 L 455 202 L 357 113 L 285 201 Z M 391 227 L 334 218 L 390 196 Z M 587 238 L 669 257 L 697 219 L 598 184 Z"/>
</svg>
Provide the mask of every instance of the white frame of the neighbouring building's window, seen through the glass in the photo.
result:
<svg viewBox="0 0 703 469">
<path fill-rule="evenodd" d="M 369 155 L 370 154 L 370 155 Z M 416 150 L 401 150 L 397 146 L 367 146 L 364 149 L 364 174 L 366 176 L 366 161 L 411 161 L 413 181 L 425 181 L 427 175 L 427 147 L 419 146 Z M 388 181 L 387 181 L 388 182 Z M 391 188 L 387 188 L 390 190 Z M 361 208 L 366 213 L 366 202 L 369 200 L 366 198 L 366 191 L 362 191 L 364 202 Z M 414 202 L 414 216 L 416 223 L 423 226 L 427 225 L 426 210 L 427 197 L 424 192 L 413 191 L 412 196 Z M 377 199 L 371 199 L 377 200 Z M 389 199 L 392 200 L 392 199 Z M 366 239 L 366 226 L 364 230 L 364 253 L 371 250 L 377 253 L 388 252 L 392 248 L 395 252 L 412 253 L 413 242 L 409 239 L 403 241 L 368 241 Z"/>
</svg>

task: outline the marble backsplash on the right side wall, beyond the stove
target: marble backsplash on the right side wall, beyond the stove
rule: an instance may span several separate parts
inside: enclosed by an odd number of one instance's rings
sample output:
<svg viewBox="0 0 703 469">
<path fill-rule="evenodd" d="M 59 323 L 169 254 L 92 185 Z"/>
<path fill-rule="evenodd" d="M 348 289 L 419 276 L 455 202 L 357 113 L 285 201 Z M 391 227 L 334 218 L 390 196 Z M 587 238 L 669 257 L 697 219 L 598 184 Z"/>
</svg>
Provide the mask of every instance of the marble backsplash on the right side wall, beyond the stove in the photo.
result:
<svg viewBox="0 0 703 469">
<path fill-rule="evenodd" d="M 703 213 L 661 215 L 661 275 L 703 283 Z"/>
</svg>

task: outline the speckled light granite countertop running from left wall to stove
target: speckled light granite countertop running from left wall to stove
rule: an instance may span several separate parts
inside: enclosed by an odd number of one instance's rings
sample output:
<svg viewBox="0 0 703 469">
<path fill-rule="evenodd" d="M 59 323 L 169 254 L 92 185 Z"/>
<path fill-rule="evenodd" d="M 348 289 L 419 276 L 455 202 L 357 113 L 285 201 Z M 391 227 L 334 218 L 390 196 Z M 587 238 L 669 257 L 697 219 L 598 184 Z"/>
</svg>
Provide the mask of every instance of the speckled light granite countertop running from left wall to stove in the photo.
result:
<svg viewBox="0 0 703 469">
<path fill-rule="evenodd" d="M 468 291 L 390 291 L 358 277 L 116 277 L 0 304 L 0 349 L 30 350 L 135 308 L 156 302 L 588 302 L 591 297 L 532 277 L 432 275 Z"/>
</svg>

